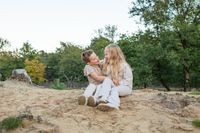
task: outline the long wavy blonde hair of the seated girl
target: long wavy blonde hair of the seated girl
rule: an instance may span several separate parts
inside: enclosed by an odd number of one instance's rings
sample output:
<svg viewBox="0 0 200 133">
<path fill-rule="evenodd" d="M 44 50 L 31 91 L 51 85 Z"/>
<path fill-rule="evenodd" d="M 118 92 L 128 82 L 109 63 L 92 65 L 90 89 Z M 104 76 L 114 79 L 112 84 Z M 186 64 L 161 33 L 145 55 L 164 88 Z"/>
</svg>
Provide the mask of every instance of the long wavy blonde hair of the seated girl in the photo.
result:
<svg viewBox="0 0 200 133">
<path fill-rule="evenodd" d="M 104 62 L 103 73 L 112 79 L 118 79 L 122 64 L 126 62 L 124 54 L 117 44 L 109 44 L 105 50 L 108 50 L 110 59 Z"/>
</svg>

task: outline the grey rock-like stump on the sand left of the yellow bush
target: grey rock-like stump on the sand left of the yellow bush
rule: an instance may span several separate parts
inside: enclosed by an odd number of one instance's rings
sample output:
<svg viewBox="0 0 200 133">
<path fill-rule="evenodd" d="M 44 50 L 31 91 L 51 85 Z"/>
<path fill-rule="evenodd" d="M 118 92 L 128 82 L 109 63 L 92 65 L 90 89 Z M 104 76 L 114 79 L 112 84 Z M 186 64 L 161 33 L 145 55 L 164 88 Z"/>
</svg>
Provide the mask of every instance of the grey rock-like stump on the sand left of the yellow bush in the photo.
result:
<svg viewBox="0 0 200 133">
<path fill-rule="evenodd" d="M 18 81 L 24 81 L 32 84 L 30 76 L 27 74 L 25 69 L 14 69 L 12 71 L 11 79 L 15 79 Z"/>
</svg>

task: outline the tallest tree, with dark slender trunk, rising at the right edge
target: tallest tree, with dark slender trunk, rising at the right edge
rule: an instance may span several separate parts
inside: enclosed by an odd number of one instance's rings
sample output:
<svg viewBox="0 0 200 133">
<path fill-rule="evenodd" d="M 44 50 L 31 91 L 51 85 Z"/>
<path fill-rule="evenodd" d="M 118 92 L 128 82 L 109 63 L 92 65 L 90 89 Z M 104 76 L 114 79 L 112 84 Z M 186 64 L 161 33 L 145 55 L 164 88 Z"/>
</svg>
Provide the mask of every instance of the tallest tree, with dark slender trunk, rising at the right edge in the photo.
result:
<svg viewBox="0 0 200 133">
<path fill-rule="evenodd" d="M 189 55 L 193 55 L 190 51 L 199 47 L 200 3 L 198 0 L 136 0 L 133 2 L 130 14 L 140 16 L 146 27 L 155 32 L 160 43 L 161 33 L 174 33 L 175 42 L 165 43 L 169 45 L 165 48 L 174 51 L 180 57 L 179 63 L 182 65 L 184 75 L 183 87 L 186 91 L 189 87 L 190 62 L 192 62 L 192 57 Z"/>
</svg>

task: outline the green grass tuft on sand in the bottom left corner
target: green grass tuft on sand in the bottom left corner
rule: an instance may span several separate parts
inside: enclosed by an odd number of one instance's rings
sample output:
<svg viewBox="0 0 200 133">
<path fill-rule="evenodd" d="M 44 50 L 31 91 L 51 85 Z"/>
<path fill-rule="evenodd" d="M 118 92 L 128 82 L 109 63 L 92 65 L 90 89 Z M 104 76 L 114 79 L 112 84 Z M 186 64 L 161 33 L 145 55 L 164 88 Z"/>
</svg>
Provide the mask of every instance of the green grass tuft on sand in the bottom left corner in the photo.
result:
<svg viewBox="0 0 200 133">
<path fill-rule="evenodd" d="M 11 130 L 21 126 L 22 120 L 16 117 L 8 117 L 0 122 L 0 130 Z"/>
</svg>

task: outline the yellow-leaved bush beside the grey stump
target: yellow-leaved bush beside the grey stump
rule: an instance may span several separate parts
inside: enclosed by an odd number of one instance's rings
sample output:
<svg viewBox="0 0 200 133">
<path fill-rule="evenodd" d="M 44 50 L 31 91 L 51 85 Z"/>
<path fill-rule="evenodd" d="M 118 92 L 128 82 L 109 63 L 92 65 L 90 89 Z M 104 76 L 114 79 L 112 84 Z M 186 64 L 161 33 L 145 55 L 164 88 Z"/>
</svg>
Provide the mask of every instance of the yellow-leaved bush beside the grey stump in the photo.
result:
<svg viewBox="0 0 200 133">
<path fill-rule="evenodd" d="M 44 78 L 45 65 L 43 63 L 39 62 L 37 59 L 33 60 L 26 59 L 24 64 L 27 73 L 30 75 L 34 83 L 42 83 L 45 81 Z"/>
</svg>

